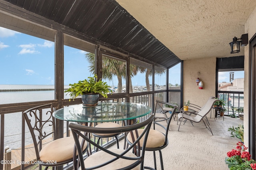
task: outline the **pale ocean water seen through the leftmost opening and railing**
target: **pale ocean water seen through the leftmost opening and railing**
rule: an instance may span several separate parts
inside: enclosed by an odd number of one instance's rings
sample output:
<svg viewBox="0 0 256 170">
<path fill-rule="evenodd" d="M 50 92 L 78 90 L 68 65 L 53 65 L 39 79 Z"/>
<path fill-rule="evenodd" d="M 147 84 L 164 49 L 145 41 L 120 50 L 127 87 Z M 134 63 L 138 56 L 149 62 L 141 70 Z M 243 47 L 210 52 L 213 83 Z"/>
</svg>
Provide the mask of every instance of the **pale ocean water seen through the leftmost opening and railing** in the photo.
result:
<svg viewBox="0 0 256 170">
<path fill-rule="evenodd" d="M 64 86 L 68 88 L 69 86 Z M 19 89 L 20 91 L 11 91 Z M 30 91 L 22 91 L 33 89 Z M 47 89 L 47 90 L 39 90 Z M 50 89 L 50 90 L 49 90 Z M 43 100 L 54 100 L 54 85 L 0 85 L 0 104 L 12 104 L 20 102 L 35 102 Z M 7 91 L 3 91 L 7 90 Z M 64 94 L 64 98 L 70 98 Z M 25 123 L 26 124 L 26 123 Z M 50 127 L 51 128 L 51 127 Z M 51 129 L 46 129 L 46 131 Z M 31 144 L 30 132 L 26 126 L 25 145 Z M 22 112 L 4 115 L 4 147 L 18 149 L 21 147 Z"/>
</svg>

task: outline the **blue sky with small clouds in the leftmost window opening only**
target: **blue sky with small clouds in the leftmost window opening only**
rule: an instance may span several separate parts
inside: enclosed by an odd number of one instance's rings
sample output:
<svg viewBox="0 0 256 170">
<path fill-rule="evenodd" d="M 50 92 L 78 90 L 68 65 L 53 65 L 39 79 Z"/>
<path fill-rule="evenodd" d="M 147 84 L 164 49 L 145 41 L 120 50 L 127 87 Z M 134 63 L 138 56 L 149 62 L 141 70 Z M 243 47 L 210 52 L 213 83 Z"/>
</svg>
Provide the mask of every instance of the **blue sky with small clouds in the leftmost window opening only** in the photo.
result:
<svg viewBox="0 0 256 170">
<path fill-rule="evenodd" d="M 0 84 L 53 84 L 53 42 L 0 27 L 0 54 Z"/>
</svg>

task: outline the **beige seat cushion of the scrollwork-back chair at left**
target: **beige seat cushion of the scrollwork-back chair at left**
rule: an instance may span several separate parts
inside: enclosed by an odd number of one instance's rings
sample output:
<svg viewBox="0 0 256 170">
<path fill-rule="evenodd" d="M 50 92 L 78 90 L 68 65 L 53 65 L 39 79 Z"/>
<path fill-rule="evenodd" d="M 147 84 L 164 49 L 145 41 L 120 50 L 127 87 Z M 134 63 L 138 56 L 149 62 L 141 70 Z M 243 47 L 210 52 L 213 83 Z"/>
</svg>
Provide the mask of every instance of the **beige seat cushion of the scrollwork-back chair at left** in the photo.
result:
<svg viewBox="0 0 256 170">
<path fill-rule="evenodd" d="M 79 138 L 82 141 L 82 138 Z M 57 163 L 70 160 L 73 158 L 75 141 L 73 137 L 64 137 L 51 141 L 46 146 L 42 148 L 39 153 L 41 161 L 54 160 Z M 87 147 L 87 142 L 84 143 L 85 150 Z M 76 153 L 78 155 L 78 153 Z"/>
</svg>

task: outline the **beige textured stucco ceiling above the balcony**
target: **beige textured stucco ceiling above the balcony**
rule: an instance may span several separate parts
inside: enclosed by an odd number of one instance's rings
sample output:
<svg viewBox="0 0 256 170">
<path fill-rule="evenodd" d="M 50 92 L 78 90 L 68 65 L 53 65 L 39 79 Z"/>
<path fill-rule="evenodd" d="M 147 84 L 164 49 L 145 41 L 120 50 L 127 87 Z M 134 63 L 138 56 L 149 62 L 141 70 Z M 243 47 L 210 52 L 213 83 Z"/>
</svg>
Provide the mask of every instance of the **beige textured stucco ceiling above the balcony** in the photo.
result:
<svg viewBox="0 0 256 170">
<path fill-rule="evenodd" d="M 234 36 L 246 33 L 244 24 L 256 0 L 116 0 L 156 39 L 182 60 L 231 57 Z"/>
</svg>

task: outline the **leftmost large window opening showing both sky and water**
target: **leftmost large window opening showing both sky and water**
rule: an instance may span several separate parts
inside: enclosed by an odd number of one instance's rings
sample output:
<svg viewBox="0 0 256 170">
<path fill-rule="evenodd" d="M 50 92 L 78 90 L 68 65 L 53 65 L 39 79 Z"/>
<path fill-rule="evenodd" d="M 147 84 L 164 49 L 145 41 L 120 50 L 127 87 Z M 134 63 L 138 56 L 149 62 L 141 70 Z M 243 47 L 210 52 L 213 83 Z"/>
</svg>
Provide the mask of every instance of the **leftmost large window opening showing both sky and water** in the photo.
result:
<svg viewBox="0 0 256 170">
<path fill-rule="evenodd" d="M 0 27 L 0 103 L 54 100 L 54 42 Z"/>
</svg>

